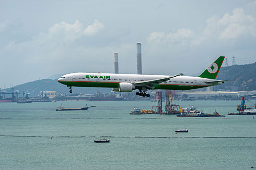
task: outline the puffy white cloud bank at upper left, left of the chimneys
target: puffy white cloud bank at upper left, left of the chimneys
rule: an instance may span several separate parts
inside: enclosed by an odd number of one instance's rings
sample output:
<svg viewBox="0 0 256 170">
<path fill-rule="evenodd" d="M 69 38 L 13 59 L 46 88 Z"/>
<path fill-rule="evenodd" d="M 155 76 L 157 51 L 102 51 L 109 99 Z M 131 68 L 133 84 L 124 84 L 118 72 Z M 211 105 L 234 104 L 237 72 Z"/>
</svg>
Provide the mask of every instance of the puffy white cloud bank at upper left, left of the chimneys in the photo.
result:
<svg viewBox="0 0 256 170">
<path fill-rule="evenodd" d="M 46 33 L 39 33 L 29 41 L 17 42 L 15 40 L 8 42 L 4 50 L 6 51 L 26 51 L 24 49 L 37 49 L 43 51 L 54 51 L 56 53 L 58 49 L 62 49 L 66 46 L 71 46 L 73 42 L 82 36 L 92 36 L 97 34 L 104 25 L 98 20 L 95 20 L 92 25 L 83 26 L 79 20 L 76 20 L 74 24 L 69 24 L 64 21 L 54 24 L 48 29 Z M 30 51 L 30 50 L 29 50 Z"/>
</svg>

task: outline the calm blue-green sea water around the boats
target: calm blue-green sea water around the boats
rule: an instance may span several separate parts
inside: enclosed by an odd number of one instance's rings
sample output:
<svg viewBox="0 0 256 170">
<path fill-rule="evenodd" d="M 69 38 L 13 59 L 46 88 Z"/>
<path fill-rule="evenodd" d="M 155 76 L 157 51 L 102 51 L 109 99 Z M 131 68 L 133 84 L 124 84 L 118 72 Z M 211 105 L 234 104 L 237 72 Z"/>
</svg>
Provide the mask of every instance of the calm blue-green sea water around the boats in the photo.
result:
<svg viewBox="0 0 256 170">
<path fill-rule="evenodd" d="M 95 105 L 87 111 L 55 111 Z M 226 117 L 129 115 L 150 101 L 0 103 L 1 170 L 250 170 L 256 119 L 231 116 L 239 101 L 179 101 Z M 164 108 L 164 106 L 163 106 Z M 188 133 L 175 133 L 186 128 Z M 95 143 L 101 137 L 110 143 Z"/>
</svg>

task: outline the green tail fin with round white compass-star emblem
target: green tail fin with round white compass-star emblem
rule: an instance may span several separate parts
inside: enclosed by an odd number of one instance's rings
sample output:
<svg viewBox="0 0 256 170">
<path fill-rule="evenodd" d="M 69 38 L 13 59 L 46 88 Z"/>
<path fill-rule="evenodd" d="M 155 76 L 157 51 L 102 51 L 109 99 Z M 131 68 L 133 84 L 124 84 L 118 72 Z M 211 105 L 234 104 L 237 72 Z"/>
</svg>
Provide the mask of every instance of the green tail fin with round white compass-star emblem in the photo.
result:
<svg viewBox="0 0 256 170">
<path fill-rule="evenodd" d="M 204 70 L 198 77 L 216 79 L 218 71 L 224 61 L 224 56 L 220 56 L 207 69 Z"/>
</svg>

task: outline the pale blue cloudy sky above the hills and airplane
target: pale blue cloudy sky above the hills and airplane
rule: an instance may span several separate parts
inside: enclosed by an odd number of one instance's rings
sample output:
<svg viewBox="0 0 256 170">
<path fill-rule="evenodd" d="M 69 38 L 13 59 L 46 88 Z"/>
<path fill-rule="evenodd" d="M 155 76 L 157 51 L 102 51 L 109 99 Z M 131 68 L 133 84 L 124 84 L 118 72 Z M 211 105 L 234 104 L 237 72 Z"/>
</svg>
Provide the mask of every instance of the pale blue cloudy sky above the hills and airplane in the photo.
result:
<svg viewBox="0 0 256 170">
<path fill-rule="evenodd" d="M 197 75 L 256 62 L 256 0 L 0 0 L 0 88 L 73 72 Z M 225 65 L 225 62 L 223 63 Z"/>
</svg>

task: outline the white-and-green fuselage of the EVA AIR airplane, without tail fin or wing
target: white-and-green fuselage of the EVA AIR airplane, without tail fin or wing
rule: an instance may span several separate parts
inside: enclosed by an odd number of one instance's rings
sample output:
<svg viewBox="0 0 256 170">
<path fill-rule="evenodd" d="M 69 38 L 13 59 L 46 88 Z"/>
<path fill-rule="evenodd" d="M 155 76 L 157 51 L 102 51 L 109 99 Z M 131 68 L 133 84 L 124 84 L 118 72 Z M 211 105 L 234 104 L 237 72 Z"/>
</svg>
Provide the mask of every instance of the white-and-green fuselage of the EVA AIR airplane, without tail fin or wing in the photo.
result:
<svg viewBox="0 0 256 170">
<path fill-rule="evenodd" d="M 141 74 L 113 74 L 113 73 L 71 73 L 63 75 L 58 79 L 58 82 L 67 86 L 82 86 L 82 87 L 111 87 L 118 88 L 120 83 L 138 83 L 150 80 L 170 77 L 167 75 L 141 75 Z M 212 82 L 215 79 L 207 79 L 191 76 L 177 76 L 169 79 L 166 82 L 154 85 L 154 89 L 174 89 L 174 90 L 189 90 L 202 88 L 212 85 L 220 85 L 224 82 Z M 139 89 L 139 88 L 138 88 Z"/>
</svg>

